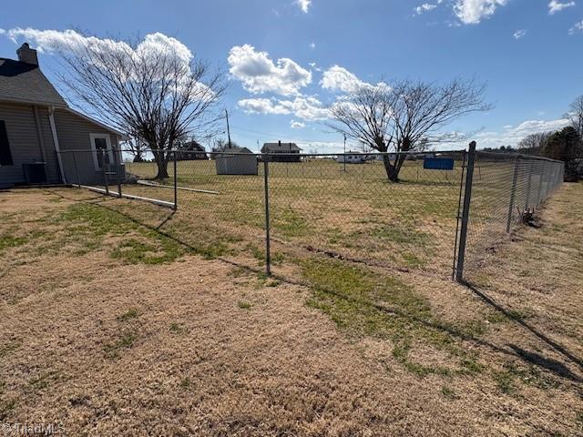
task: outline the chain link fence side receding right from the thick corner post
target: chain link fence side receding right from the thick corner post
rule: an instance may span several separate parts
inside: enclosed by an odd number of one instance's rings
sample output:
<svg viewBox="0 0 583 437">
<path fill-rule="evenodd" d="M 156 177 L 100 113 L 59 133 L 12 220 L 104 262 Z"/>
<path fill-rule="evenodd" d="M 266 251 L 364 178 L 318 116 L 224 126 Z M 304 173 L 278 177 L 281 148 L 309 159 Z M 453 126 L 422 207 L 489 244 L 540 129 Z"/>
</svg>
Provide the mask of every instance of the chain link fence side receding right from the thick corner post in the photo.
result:
<svg viewBox="0 0 583 437">
<path fill-rule="evenodd" d="M 552 159 L 470 148 L 456 242 L 458 280 L 480 274 L 497 246 L 560 187 L 564 168 Z"/>
</svg>

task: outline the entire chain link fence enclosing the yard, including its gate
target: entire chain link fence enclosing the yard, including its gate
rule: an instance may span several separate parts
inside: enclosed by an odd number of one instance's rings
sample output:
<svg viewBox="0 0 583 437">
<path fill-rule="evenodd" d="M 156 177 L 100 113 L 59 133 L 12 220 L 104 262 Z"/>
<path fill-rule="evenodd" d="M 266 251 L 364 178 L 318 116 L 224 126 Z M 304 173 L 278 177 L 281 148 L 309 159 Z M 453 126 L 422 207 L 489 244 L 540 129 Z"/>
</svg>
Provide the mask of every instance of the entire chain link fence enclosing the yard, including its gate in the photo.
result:
<svg viewBox="0 0 583 437">
<path fill-rule="evenodd" d="M 188 223 L 174 230 L 202 254 L 256 262 L 268 274 L 312 253 L 441 276 L 453 268 L 459 280 L 557 189 L 563 172 L 542 158 L 418 152 L 402 155 L 392 183 L 384 158 L 395 154 L 242 151 L 172 152 L 166 178 L 148 153 L 144 162 L 129 162 L 128 150 L 61 158 L 69 183 L 186 211 Z"/>
</svg>

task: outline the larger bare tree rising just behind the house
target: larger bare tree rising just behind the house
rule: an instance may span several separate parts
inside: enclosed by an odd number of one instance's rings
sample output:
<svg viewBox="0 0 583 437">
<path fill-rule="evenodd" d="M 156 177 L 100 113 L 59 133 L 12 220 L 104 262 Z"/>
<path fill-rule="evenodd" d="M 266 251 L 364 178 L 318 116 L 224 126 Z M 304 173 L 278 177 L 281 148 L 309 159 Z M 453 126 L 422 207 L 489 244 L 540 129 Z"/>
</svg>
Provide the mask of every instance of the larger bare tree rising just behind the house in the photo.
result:
<svg viewBox="0 0 583 437">
<path fill-rule="evenodd" d="M 219 71 L 169 44 L 87 38 L 59 48 L 61 81 L 98 119 L 146 145 L 168 178 L 170 150 L 180 137 L 207 135 L 225 90 Z M 138 152 L 142 152 L 142 148 Z"/>
</svg>

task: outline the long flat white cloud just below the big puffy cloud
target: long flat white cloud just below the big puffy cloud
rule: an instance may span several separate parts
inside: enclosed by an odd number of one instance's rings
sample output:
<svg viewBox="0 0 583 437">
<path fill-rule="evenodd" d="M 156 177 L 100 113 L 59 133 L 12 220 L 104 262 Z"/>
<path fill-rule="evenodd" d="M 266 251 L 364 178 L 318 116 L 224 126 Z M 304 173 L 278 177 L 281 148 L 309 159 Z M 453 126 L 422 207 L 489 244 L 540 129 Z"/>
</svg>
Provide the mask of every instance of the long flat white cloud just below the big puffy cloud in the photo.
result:
<svg viewBox="0 0 583 437">
<path fill-rule="evenodd" d="M 330 117 L 328 109 L 316 97 L 295 97 L 293 100 L 245 98 L 238 102 L 238 106 L 251 114 L 293 114 L 302 120 L 324 120 Z"/>
</svg>

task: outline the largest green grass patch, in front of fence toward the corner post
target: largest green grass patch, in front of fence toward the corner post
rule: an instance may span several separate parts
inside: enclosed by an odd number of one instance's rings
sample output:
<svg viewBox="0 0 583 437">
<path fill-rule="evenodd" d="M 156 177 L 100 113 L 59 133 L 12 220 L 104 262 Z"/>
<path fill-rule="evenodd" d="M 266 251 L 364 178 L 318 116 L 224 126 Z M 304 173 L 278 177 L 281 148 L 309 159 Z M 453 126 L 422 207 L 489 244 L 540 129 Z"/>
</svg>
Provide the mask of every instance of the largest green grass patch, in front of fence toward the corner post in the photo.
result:
<svg viewBox="0 0 583 437">
<path fill-rule="evenodd" d="M 482 370 L 476 357 L 459 345 L 459 338 L 481 335 L 482 324 L 472 321 L 450 324 L 439 320 L 429 302 L 412 287 L 373 269 L 335 259 L 299 262 L 312 290 L 307 305 L 327 314 L 351 335 L 393 341 L 393 357 L 408 371 L 419 376 L 449 376 Z M 409 352 L 415 344 L 445 351 L 452 367 L 412 361 Z"/>
</svg>

